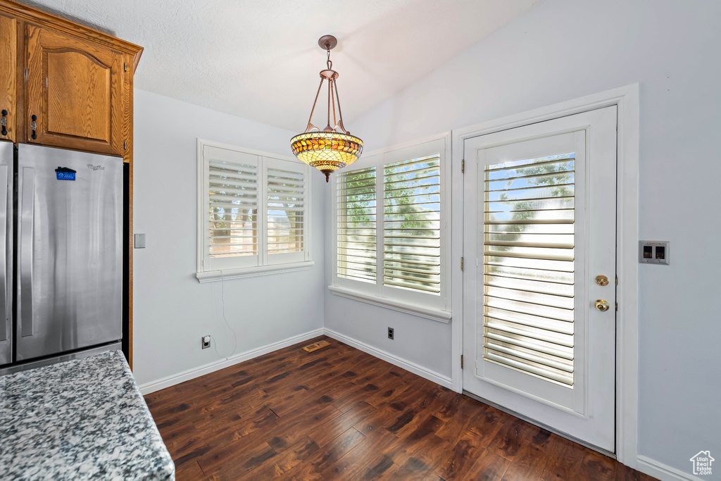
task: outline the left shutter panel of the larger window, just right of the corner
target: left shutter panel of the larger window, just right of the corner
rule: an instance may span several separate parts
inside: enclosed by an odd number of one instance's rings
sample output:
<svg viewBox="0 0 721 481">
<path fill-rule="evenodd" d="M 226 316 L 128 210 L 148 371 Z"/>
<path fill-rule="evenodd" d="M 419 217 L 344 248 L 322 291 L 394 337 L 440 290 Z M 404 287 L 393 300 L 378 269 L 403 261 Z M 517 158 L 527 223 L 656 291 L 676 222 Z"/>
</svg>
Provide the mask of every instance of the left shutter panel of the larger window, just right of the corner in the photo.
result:
<svg viewBox="0 0 721 481">
<path fill-rule="evenodd" d="M 337 276 L 376 283 L 376 167 L 337 177 Z"/>
</svg>

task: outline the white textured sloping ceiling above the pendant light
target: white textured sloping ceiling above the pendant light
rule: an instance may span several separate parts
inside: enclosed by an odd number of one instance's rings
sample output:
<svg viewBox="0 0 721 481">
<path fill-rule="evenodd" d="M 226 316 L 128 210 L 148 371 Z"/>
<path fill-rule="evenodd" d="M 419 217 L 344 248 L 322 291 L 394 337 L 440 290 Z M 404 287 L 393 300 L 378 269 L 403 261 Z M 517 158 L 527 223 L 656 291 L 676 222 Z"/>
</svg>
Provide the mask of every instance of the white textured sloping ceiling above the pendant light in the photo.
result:
<svg viewBox="0 0 721 481">
<path fill-rule="evenodd" d="M 142 45 L 139 89 L 300 132 L 325 68 L 322 35 L 339 41 L 331 60 L 353 131 L 358 115 L 540 0 L 22 1 Z"/>
</svg>

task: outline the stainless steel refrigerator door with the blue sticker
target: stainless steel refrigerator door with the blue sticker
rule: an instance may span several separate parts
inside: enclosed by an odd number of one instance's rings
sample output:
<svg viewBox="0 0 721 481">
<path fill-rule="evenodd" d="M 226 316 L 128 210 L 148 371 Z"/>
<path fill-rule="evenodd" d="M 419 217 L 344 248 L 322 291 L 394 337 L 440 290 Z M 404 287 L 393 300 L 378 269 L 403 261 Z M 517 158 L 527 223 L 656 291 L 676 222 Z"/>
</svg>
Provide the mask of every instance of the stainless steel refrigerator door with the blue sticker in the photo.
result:
<svg viewBox="0 0 721 481">
<path fill-rule="evenodd" d="M 17 361 L 122 337 L 123 159 L 20 144 Z"/>
</svg>

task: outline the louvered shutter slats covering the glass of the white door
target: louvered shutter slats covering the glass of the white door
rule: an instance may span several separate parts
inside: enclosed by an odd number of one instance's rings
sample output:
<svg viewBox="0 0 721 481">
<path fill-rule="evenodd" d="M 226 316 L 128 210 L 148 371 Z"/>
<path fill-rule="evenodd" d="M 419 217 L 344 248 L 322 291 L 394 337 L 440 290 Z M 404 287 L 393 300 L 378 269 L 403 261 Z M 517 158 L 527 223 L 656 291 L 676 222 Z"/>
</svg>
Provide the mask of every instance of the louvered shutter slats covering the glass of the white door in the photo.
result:
<svg viewBox="0 0 721 481">
<path fill-rule="evenodd" d="M 574 154 L 485 169 L 483 357 L 573 386 Z"/>
</svg>

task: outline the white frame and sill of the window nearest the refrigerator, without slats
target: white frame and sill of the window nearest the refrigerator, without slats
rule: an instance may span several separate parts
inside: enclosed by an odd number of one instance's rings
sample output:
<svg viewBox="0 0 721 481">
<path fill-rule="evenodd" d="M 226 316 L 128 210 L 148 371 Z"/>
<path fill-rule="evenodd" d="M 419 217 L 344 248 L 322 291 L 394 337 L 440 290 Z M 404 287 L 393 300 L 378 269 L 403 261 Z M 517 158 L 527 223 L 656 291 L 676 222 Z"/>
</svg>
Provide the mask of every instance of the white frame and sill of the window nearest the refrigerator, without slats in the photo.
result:
<svg viewBox="0 0 721 481">
<path fill-rule="evenodd" d="M 211 267 L 209 255 L 209 183 L 208 164 L 209 152 L 223 151 L 223 156 L 229 160 L 242 160 L 258 167 L 258 211 L 257 211 L 257 255 L 226 257 L 214 260 Z M 303 225 L 303 252 L 288 252 L 268 255 L 267 253 L 267 169 L 289 168 L 302 172 L 306 179 L 304 193 L 304 225 Z M 311 259 L 311 177 L 310 169 L 306 164 L 298 162 L 290 156 L 280 156 L 268 152 L 246 149 L 244 147 L 220 142 L 208 141 L 198 138 L 198 257 L 195 278 L 198 282 L 220 281 L 221 279 L 234 279 L 266 275 L 273 273 L 306 270 L 314 265 Z M 220 261 L 220 262 L 218 262 Z"/>
</svg>

